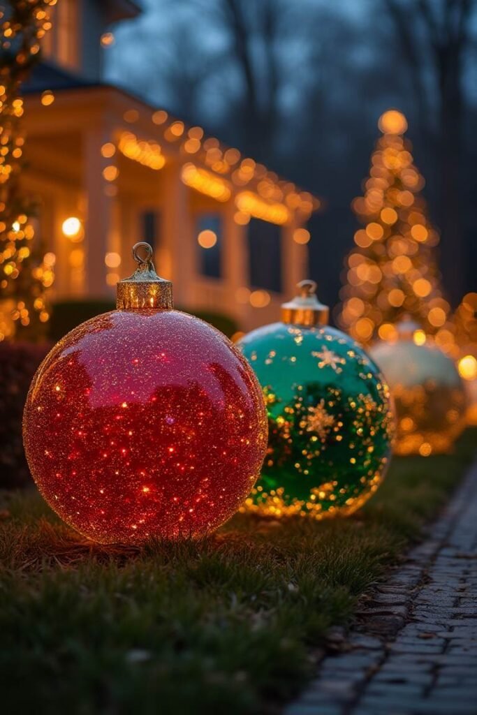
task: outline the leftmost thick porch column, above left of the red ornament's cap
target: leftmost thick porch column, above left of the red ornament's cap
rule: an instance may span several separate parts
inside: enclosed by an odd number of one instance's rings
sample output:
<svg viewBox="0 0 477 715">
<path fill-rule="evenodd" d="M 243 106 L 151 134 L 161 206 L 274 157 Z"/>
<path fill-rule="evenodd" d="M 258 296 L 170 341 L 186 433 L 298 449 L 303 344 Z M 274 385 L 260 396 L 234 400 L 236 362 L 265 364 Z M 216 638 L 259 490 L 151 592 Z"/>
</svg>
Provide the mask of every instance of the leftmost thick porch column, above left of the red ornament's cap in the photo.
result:
<svg viewBox="0 0 477 715">
<path fill-rule="evenodd" d="M 114 245 L 114 182 L 103 177 L 103 169 L 114 165 L 112 159 L 104 159 L 101 147 L 111 141 L 101 127 L 89 129 L 84 141 L 84 192 L 86 216 L 84 222 L 85 282 L 88 297 L 107 297 L 111 289 L 106 283 L 104 256 Z"/>
</svg>

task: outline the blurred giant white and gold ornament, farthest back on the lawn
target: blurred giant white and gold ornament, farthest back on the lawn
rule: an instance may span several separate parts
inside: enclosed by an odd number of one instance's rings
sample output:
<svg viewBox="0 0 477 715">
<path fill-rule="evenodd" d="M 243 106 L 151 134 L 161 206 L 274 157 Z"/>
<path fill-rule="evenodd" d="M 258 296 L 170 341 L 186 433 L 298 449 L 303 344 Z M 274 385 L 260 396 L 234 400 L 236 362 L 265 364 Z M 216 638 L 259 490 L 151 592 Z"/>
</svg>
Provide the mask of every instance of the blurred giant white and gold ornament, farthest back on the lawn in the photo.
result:
<svg viewBox="0 0 477 715">
<path fill-rule="evenodd" d="M 465 424 L 466 395 L 456 366 L 419 325 L 405 318 L 396 338 L 378 342 L 370 355 L 383 370 L 397 416 L 396 454 L 447 452 Z"/>
</svg>

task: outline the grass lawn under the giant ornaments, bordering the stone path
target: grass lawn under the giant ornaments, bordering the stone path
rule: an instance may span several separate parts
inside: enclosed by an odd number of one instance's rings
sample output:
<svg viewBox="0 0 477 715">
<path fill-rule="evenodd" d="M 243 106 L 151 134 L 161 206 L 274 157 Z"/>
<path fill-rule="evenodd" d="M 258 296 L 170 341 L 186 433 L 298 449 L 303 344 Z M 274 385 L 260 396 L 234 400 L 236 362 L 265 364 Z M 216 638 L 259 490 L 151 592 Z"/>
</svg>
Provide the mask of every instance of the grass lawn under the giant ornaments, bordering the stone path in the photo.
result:
<svg viewBox="0 0 477 715">
<path fill-rule="evenodd" d="M 0 512 L 0 693 L 5 715 L 274 712 L 473 457 L 395 459 L 348 520 L 237 516 L 212 538 L 84 543 L 33 490 Z"/>
</svg>

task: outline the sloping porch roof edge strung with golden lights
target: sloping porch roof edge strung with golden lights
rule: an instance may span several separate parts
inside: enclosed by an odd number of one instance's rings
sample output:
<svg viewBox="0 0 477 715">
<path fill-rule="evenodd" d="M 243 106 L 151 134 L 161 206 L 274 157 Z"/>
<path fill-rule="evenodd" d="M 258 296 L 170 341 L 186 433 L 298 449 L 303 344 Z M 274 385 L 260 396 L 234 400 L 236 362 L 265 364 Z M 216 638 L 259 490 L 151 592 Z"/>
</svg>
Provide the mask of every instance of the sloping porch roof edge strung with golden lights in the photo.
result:
<svg viewBox="0 0 477 715">
<path fill-rule="evenodd" d="M 318 197 L 216 137 L 206 136 L 202 127 L 185 124 L 122 89 L 108 84 L 57 85 L 54 102 L 46 107 L 41 104 L 44 94 L 34 87 L 26 92 L 25 122 L 31 136 L 54 136 L 65 127 L 80 132 L 94 127 L 110 129 L 125 156 L 146 163 L 142 159 L 147 159 L 149 150 L 155 159 L 160 152 L 162 163 L 180 161 L 182 180 L 192 189 L 216 194 L 214 197 L 224 202 L 234 196 L 244 215 L 278 224 L 291 217 L 303 224 L 320 207 Z M 140 154 L 141 148 L 145 156 Z M 146 165 L 160 169 L 162 163 Z"/>
</svg>

